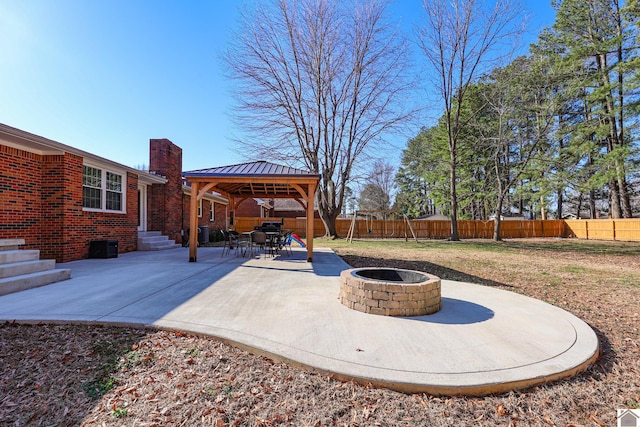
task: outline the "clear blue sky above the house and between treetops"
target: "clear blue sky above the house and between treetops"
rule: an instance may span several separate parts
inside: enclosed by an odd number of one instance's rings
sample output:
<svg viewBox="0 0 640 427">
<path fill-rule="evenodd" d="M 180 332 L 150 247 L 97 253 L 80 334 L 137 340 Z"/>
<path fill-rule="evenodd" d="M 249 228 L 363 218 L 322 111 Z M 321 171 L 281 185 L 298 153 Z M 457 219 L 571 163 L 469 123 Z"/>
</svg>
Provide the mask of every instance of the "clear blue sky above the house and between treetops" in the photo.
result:
<svg viewBox="0 0 640 427">
<path fill-rule="evenodd" d="M 553 10 L 550 0 L 525 3 L 533 42 Z M 148 165 L 150 138 L 182 147 L 184 170 L 242 162 L 220 61 L 240 7 L 0 0 L 0 123 L 134 167 Z M 421 1 L 396 0 L 391 11 L 410 29 Z"/>
</svg>

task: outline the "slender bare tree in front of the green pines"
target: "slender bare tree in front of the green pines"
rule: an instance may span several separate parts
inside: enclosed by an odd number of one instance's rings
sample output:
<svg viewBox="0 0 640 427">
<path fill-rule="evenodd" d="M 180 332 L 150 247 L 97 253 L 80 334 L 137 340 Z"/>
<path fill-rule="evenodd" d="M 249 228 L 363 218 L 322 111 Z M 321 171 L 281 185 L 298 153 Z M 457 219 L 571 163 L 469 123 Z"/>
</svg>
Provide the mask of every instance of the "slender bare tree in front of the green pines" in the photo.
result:
<svg viewBox="0 0 640 427">
<path fill-rule="evenodd" d="M 489 7 L 479 0 L 423 0 L 425 24 L 418 30 L 424 55 L 435 71 L 434 87 L 442 97 L 449 145 L 451 240 L 458 236 L 458 141 L 466 123 L 461 105 L 467 89 L 500 62 L 505 43 L 513 47 L 522 32 L 516 26 L 522 16 L 517 0 L 495 0 Z"/>
</svg>

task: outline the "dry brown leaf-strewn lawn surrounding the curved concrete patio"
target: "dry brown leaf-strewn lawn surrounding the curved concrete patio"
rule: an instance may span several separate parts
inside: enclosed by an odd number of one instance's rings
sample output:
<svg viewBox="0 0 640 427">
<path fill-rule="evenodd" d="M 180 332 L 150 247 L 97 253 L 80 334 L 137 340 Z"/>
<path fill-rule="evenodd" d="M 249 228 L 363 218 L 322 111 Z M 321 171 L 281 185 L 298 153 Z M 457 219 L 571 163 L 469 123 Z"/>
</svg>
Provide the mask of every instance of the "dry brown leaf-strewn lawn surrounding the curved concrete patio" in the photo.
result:
<svg viewBox="0 0 640 427">
<path fill-rule="evenodd" d="M 617 408 L 640 408 L 638 254 L 458 249 L 336 250 L 354 267 L 418 269 L 558 305 L 594 328 L 598 361 L 529 390 L 435 397 L 336 381 L 183 332 L 5 323 L 0 425 L 611 426 Z"/>
</svg>

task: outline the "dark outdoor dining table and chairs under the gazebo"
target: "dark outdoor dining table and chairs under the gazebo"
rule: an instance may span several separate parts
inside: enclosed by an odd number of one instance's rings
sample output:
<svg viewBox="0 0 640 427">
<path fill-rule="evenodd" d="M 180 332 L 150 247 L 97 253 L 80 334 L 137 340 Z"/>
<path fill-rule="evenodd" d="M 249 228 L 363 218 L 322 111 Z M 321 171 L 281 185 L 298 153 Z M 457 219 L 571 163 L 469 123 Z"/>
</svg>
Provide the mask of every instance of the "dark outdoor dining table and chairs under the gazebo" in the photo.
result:
<svg viewBox="0 0 640 427">
<path fill-rule="evenodd" d="M 237 231 L 223 231 L 224 247 L 222 256 L 234 251 L 235 256 L 249 256 L 264 254 L 276 256 L 291 254 L 292 232 L 283 230 L 278 222 L 264 222 L 256 226 L 253 231 L 238 233 Z"/>
</svg>

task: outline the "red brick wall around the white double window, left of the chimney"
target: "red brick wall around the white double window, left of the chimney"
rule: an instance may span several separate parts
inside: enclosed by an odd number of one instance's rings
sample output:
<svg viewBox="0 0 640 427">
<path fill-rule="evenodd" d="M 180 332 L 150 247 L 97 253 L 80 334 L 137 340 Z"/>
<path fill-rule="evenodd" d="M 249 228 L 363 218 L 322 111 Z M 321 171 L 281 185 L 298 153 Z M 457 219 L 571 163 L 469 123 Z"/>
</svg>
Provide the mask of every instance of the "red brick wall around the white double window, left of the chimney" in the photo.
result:
<svg viewBox="0 0 640 427">
<path fill-rule="evenodd" d="M 82 209 L 82 157 L 45 155 L 0 145 L 0 238 L 21 238 L 43 259 L 89 256 L 91 240 L 137 248 L 138 176 L 127 174 L 126 214 Z"/>
</svg>

